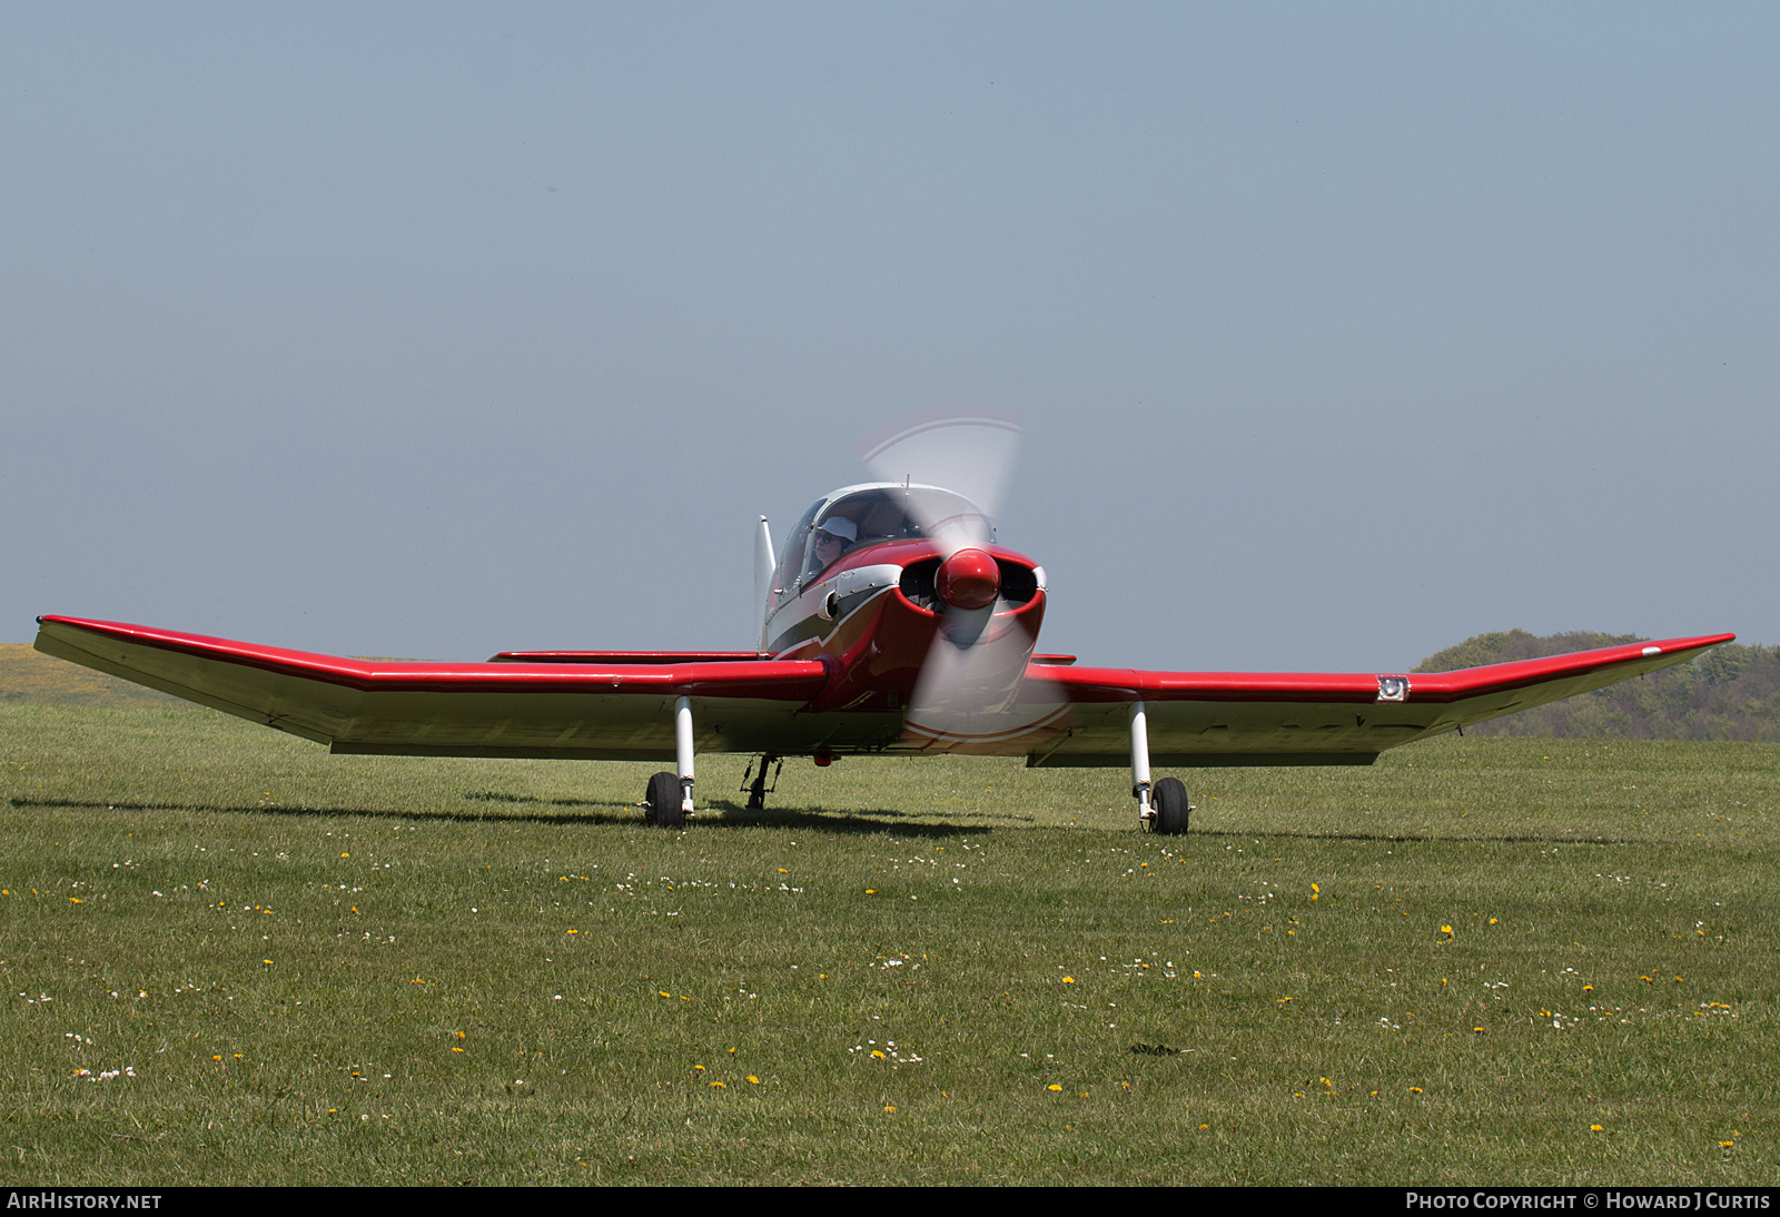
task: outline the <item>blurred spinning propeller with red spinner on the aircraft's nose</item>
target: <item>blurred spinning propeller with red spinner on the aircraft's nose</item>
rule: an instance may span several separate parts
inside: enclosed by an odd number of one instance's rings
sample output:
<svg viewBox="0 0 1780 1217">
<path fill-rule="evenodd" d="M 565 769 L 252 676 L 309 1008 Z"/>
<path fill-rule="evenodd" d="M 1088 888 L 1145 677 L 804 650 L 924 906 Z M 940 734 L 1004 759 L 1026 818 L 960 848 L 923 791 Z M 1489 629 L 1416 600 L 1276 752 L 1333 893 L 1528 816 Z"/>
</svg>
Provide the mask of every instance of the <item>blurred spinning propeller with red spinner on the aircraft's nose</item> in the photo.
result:
<svg viewBox="0 0 1780 1217">
<path fill-rule="evenodd" d="M 867 441 L 865 464 L 885 482 L 938 486 L 975 504 L 984 518 L 956 514 L 956 502 L 911 495 L 908 511 L 940 543 L 934 573 L 940 628 L 910 699 L 908 724 L 951 742 L 988 740 L 1020 724 L 1006 717 L 1020 690 L 1031 637 L 1006 617 L 1002 571 L 984 548 L 1020 448 L 1020 423 L 995 413 L 904 420 Z"/>
</svg>

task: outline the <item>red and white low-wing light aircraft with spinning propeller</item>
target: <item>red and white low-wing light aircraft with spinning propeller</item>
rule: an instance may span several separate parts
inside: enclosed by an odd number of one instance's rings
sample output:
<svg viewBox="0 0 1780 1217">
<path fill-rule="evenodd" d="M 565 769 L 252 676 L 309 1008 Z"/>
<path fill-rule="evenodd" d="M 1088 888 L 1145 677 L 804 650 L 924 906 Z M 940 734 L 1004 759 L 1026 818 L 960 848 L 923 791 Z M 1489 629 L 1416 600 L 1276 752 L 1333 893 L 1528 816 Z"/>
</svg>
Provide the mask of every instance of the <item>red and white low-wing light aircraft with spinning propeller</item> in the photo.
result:
<svg viewBox="0 0 1780 1217">
<path fill-rule="evenodd" d="M 1180 834 L 1185 785 L 1155 769 L 1371 765 L 1736 637 L 1436 674 L 1084 667 L 1038 651 L 1045 568 L 995 537 L 1016 434 L 986 415 L 915 422 L 867 454 L 879 480 L 824 495 L 778 553 L 762 516 L 751 651 L 384 662 L 59 616 L 37 619 L 36 646 L 342 754 L 673 762 L 643 802 L 668 827 L 692 813 L 698 753 L 758 754 L 749 808 L 787 756 L 961 753 L 1129 767 L 1139 824 Z"/>
</svg>

